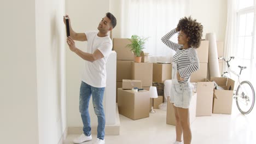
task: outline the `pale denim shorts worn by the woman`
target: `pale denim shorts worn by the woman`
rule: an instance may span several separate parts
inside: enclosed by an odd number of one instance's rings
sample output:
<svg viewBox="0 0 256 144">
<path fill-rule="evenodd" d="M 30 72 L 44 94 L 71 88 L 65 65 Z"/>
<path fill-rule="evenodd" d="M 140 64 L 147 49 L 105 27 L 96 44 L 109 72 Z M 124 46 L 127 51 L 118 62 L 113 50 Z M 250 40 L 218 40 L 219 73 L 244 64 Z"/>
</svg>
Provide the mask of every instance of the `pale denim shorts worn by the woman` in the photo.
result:
<svg viewBox="0 0 256 144">
<path fill-rule="evenodd" d="M 176 107 L 188 109 L 192 97 L 192 88 L 190 82 L 187 83 L 172 83 L 170 102 Z"/>
</svg>

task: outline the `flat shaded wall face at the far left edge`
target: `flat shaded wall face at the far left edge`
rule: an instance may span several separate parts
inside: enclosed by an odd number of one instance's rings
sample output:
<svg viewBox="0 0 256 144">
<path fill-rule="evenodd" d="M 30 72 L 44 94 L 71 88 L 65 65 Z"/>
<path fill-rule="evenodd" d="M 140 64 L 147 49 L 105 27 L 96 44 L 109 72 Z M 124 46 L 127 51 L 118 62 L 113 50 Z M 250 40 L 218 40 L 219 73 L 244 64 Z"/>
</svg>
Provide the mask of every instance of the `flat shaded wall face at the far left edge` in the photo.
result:
<svg viewBox="0 0 256 144">
<path fill-rule="evenodd" d="M 1 1 L 0 13 L 0 141 L 38 143 L 34 1 Z"/>
</svg>

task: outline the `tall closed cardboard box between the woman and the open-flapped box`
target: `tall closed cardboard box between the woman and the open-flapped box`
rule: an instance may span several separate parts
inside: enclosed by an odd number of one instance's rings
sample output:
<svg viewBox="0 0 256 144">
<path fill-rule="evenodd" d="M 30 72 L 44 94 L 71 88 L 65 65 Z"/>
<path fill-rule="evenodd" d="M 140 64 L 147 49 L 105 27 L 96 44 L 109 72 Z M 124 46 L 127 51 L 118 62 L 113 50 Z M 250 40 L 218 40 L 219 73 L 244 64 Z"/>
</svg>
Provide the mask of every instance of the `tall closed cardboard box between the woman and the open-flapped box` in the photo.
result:
<svg viewBox="0 0 256 144">
<path fill-rule="evenodd" d="M 213 88 L 213 82 L 197 82 L 196 116 L 212 115 Z"/>
</svg>

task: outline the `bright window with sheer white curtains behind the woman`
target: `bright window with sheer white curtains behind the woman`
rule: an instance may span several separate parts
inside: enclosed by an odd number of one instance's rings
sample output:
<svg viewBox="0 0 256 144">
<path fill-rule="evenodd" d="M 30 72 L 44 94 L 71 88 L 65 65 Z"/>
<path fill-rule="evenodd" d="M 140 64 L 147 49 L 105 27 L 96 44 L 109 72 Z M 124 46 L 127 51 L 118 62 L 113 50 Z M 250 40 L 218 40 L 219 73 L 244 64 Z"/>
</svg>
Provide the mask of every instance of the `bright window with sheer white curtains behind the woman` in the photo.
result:
<svg viewBox="0 0 256 144">
<path fill-rule="evenodd" d="M 189 14 L 187 0 L 122 0 L 121 37 L 136 34 L 149 37 L 144 51 L 152 56 L 173 55 L 173 51 L 161 42 L 161 38 L 176 28 L 179 19 Z M 177 36 L 173 36 L 177 41 Z M 171 61 L 166 59 L 165 61 Z"/>
</svg>

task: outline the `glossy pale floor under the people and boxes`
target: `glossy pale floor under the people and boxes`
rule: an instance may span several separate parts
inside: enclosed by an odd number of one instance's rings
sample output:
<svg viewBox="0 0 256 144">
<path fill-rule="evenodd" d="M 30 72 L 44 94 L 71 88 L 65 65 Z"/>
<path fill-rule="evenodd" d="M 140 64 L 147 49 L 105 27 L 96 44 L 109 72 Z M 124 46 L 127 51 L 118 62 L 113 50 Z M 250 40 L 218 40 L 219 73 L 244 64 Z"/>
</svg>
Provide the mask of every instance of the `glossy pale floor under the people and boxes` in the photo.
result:
<svg viewBox="0 0 256 144">
<path fill-rule="evenodd" d="M 235 101 L 233 101 L 235 102 Z M 191 124 L 192 142 L 196 144 L 251 144 L 256 143 L 256 106 L 249 115 L 238 112 L 233 103 L 232 115 L 213 114 L 207 117 L 196 117 Z M 120 115 L 120 135 L 105 137 L 109 144 L 131 143 L 173 143 L 175 127 L 166 124 L 166 111 L 155 110 L 149 118 L 133 121 Z M 64 144 L 72 143 L 78 135 L 68 135 Z M 97 136 L 92 135 L 91 144 Z"/>
</svg>

